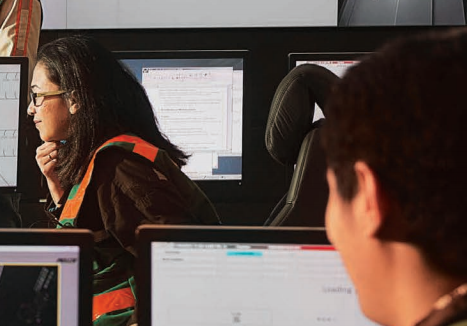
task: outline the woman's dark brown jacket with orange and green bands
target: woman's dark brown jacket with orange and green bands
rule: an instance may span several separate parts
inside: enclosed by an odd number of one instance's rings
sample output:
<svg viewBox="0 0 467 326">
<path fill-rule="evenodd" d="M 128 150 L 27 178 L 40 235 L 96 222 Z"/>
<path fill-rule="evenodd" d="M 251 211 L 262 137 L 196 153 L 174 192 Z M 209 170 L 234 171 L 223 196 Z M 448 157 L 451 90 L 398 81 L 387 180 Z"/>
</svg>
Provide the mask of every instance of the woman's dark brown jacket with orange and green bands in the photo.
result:
<svg viewBox="0 0 467 326">
<path fill-rule="evenodd" d="M 77 215 L 64 218 L 67 204 L 79 193 L 80 185 L 71 190 L 60 217 L 61 227 L 86 228 L 95 234 L 93 319 L 96 326 L 135 321 L 133 263 L 135 230 L 139 225 L 220 224 L 205 194 L 165 151 L 155 148 L 157 156 L 150 160 L 135 153 L 132 143 L 118 140 L 98 150 Z M 106 302 L 115 307 L 116 297 L 121 298 L 120 308 L 109 311 Z"/>
</svg>

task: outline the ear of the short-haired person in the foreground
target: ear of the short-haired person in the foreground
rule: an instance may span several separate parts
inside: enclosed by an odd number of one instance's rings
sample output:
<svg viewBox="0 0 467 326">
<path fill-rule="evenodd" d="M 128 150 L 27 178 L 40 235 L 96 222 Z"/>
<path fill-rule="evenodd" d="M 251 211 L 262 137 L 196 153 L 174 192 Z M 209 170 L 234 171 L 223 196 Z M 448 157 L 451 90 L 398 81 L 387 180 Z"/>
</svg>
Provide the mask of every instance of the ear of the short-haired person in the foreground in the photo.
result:
<svg viewBox="0 0 467 326">
<path fill-rule="evenodd" d="M 369 236 L 375 237 L 384 222 L 384 205 L 380 184 L 374 171 L 367 163 L 358 161 L 354 165 L 355 174 L 358 183 L 358 210 L 357 216 L 360 219 L 360 227 L 362 232 Z"/>
</svg>

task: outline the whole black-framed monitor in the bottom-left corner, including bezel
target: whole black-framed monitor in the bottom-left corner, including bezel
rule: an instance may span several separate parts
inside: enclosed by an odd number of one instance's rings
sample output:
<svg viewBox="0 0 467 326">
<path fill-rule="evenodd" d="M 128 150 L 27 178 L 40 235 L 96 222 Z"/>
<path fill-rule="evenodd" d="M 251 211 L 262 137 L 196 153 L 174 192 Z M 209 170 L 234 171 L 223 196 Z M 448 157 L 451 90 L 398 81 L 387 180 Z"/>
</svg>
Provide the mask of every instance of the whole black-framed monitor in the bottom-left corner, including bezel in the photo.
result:
<svg viewBox="0 0 467 326">
<path fill-rule="evenodd" d="M 2 325 L 91 325 L 87 230 L 0 229 Z"/>
</svg>

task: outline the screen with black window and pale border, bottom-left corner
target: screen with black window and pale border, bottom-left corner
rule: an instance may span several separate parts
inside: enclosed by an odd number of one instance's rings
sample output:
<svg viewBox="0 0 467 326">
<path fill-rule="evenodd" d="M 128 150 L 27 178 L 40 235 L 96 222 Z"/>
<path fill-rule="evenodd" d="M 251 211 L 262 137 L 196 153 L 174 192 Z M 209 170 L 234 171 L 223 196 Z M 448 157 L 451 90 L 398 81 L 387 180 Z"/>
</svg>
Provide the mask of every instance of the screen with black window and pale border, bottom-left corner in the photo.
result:
<svg viewBox="0 0 467 326">
<path fill-rule="evenodd" d="M 21 324 L 34 313 L 40 325 L 78 325 L 78 254 L 77 246 L 0 246 L 0 298 L 10 307 L 0 318 Z"/>
</svg>

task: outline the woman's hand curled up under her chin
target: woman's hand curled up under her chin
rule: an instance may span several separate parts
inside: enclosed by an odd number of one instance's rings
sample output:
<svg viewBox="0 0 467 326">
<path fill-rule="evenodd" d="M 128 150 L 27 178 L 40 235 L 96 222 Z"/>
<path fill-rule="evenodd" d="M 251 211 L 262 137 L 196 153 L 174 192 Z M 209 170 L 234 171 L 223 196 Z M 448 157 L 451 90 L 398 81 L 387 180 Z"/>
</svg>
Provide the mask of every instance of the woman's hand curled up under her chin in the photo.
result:
<svg viewBox="0 0 467 326">
<path fill-rule="evenodd" d="M 45 142 L 36 150 L 37 165 L 47 180 L 50 195 L 57 206 L 60 206 L 58 202 L 64 193 L 63 188 L 60 186 L 57 172 L 55 171 L 60 146 L 60 143 Z"/>
</svg>

